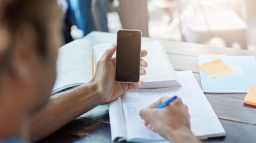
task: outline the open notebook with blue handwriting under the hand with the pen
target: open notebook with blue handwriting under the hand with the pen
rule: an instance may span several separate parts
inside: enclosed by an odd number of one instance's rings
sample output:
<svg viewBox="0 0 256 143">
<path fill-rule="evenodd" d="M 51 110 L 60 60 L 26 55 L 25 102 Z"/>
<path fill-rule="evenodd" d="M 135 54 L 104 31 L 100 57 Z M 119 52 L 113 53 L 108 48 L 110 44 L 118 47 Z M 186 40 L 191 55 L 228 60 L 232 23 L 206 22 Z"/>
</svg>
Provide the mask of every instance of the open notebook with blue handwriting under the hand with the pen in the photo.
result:
<svg viewBox="0 0 256 143">
<path fill-rule="evenodd" d="M 158 133 L 143 125 L 139 116 L 142 108 L 163 95 L 180 97 L 188 106 L 191 130 L 199 139 L 225 136 L 225 130 L 202 92 L 191 71 L 176 72 L 180 87 L 136 89 L 126 91 L 121 98 L 109 104 L 111 139 L 131 142 L 166 142 Z"/>
</svg>

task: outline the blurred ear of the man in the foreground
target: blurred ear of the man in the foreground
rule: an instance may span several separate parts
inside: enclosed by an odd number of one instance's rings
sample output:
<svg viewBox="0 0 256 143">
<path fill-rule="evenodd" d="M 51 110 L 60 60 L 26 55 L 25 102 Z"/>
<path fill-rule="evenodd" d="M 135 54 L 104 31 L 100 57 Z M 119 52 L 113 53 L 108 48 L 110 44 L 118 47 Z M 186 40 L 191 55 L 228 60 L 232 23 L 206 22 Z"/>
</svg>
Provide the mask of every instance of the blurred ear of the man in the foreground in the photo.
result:
<svg viewBox="0 0 256 143">
<path fill-rule="evenodd" d="M 17 79 L 28 81 L 33 79 L 38 64 L 37 33 L 31 24 L 24 23 L 18 27 L 13 39 L 12 69 Z"/>
</svg>

